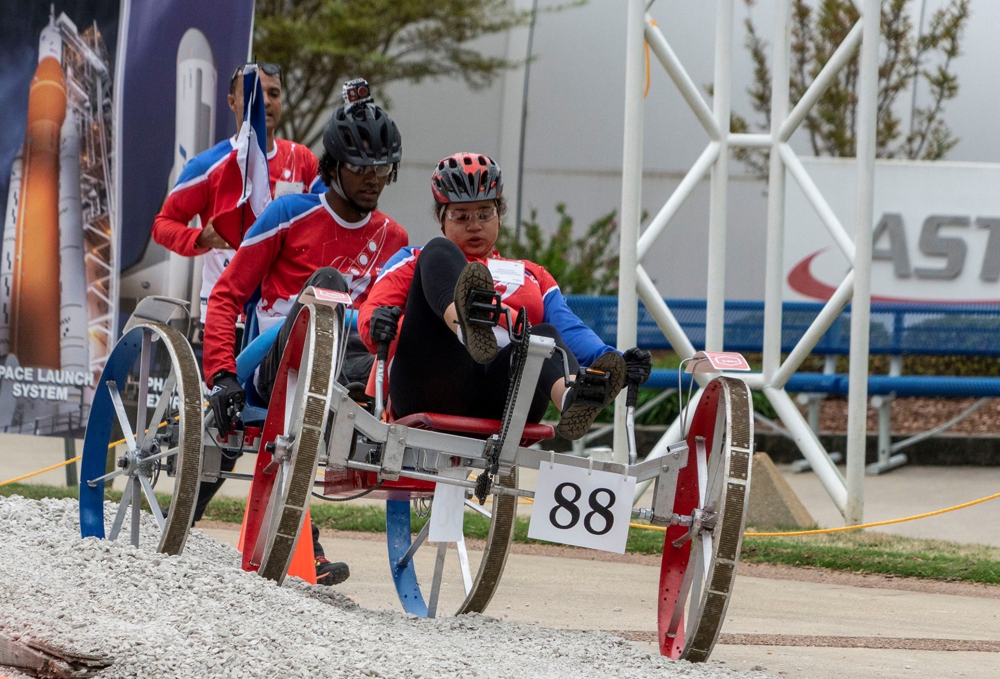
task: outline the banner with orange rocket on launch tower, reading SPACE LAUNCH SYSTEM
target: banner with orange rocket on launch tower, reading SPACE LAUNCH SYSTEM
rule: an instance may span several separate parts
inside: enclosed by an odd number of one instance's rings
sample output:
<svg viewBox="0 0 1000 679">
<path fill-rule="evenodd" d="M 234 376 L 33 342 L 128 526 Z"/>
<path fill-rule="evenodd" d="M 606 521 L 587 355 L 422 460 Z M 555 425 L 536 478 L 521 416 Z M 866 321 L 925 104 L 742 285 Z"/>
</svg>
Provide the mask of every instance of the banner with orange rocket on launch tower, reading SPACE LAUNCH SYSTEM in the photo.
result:
<svg viewBox="0 0 1000 679">
<path fill-rule="evenodd" d="M 81 428 L 114 342 L 118 17 L 79 4 L 22 5 L 0 56 L 0 431 Z"/>
</svg>

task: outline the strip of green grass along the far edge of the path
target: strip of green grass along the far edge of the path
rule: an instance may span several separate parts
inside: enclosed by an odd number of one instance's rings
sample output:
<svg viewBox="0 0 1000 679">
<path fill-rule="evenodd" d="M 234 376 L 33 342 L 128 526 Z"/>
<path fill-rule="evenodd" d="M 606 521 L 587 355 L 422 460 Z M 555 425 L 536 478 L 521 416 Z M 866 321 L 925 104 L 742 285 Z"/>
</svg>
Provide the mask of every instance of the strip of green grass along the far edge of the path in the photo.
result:
<svg viewBox="0 0 1000 679">
<path fill-rule="evenodd" d="M 0 486 L 0 496 L 8 495 L 23 495 L 35 499 L 75 498 L 77 489 L 29 484 Z M 106 497 L 118 500 L 121 494 L 109 491 Z M 167 495 L 158 493 L 157 497 L 161 506 L 170 501 Z M 243 500 L 236 498 L 216 498 L 209 504 L 205 519 L 239 523 L 243 519 L 244 504 Z M 385 532 L 385 510 L 381 505 L 314 502 L 311 513 L 313 522 L 320 528 L 365 533 Z M 419 531 L 425 521 L 426 519 L 412 515 L 413 531 Z M 489 522 L 479 514 L 468 512 L 465 530 L 470 538 L 485 538 L 489 532 Z M 528 520 L 521 517 L 515 525 L 514 541 L 541 543 L 528 538 Z M 660 554 L 663 551 L 663 533 L 633 528 L 629 531 L 626 551 Z M 851 531 L 801 537 L 744 538 L 741 558 L 754 563 L 818 566 L 857 573 L 1000 584 L 998 547 L 884 533 Z"/>
</svg>

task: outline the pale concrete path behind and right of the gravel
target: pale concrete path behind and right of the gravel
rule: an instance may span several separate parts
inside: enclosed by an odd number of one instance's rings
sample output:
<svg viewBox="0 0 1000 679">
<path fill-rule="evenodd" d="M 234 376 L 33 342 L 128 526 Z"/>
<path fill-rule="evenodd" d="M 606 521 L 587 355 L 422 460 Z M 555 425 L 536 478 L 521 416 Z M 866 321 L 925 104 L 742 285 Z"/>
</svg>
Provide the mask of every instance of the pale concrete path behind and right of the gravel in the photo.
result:
<svg viewBox="0 0 1000 679">
<path fill-rule="evenodd" d="M 206 532 L 230 544 L 238 538 L 235 530 Z M 368 608 L 398 609 L 381 539 L 325 534 L 322 542 L 329 556 L 351 565 L 351 578 L 338 590 Z M 433 553 L 433 548 L 418 552 L 421 572 L 432 568 Z M 478 554 L 470 552 L 470 558 L 475 563 Z M 455 607 L 461 588 L 455 591 L 460 576 L 453 550 L 448 559 L 444 600 Z M 658 573 L 639 564 L 514 553 L 487 612 L 533 625 L 624 630 L 652 639 Z M 885 638 L 987 640 L 1000 648 L 1000 599 L 737 576 L 723 634 L 815 635 L 820 643 L 831 636 L 882 638 L 869 640 L 871 645 Z M 650 641 L 634 643 L 658 652 Z M 762 667 L 809 679 L 1000 676 L 1000 652 L 720 644 L 712 660 L 732 669 Z"/>
</svg>

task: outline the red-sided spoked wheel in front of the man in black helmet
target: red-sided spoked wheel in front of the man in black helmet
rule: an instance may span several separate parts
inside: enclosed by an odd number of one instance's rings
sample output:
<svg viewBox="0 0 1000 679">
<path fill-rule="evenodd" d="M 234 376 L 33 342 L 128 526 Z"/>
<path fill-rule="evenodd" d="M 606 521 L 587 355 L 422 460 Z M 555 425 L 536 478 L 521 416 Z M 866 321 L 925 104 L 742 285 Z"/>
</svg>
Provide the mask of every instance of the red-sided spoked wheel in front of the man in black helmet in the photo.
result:
<svg viewBox="0 0 1000 679">
<path fill-rule="evenodd" d="M 244 570 L 281 584 L 309 506 L 333 382 L 340 321 L 334 309 L 303 307 L 271 391 L 247 511 Z"/>
</svg>

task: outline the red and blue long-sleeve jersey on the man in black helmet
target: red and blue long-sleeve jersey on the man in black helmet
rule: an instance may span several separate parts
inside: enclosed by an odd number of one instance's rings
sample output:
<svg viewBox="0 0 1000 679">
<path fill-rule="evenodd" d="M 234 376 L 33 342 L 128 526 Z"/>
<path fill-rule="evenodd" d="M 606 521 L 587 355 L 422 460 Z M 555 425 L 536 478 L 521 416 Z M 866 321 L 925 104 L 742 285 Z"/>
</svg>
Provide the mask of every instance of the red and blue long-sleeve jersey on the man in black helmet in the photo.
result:
<svg viewBox="0 0 1000 679">
<path fill-rule="evenodd" d="M 403 227 L 378 210 L 350 223 L 333 211 L 323 194 L 273 201 L 250 227 L 209 298 L 206 380 L 220 370 L 236 371 L 235 321 L 258 287 L 261 331 L 284 321 L 306 280 L 324 266 L 344 275 L 358 308 L 386 260 L 408 242 Z"/>
</svg>

